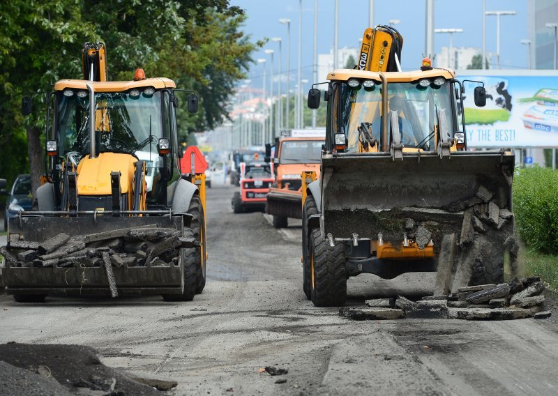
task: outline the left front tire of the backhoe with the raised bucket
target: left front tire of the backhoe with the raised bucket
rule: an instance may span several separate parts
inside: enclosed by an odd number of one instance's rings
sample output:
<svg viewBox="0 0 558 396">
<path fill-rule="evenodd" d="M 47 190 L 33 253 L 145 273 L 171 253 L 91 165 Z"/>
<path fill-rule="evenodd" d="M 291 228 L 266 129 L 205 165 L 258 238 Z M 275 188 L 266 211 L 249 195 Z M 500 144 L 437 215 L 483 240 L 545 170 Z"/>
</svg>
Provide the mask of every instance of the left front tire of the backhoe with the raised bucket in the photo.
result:
<svg viewBox="0 0 558 396">
<path fill-rule="evenodd" d="M 312 230 L 310 238 L 310 297 L 316 307 L 338 307 L 347 300 L 347 268 L 345 243 L 335 242 L 333 248 Z"/>
</svg>

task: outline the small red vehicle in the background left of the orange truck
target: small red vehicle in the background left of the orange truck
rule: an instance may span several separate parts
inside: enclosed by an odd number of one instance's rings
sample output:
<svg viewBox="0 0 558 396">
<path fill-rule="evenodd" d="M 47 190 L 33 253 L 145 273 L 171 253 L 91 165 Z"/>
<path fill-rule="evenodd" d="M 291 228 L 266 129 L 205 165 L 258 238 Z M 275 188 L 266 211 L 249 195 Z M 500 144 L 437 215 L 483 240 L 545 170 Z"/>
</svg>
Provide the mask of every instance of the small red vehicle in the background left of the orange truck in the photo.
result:
<svg viewBox="0 0 558 396">
<path fill-rule="evenodd" d="M 263 211 L 267 193 L 273 184 L 273 172 L 266 162 L 241 162 L 240 191 L 234 192 L 232 209 L 242 213 L 248 208 Z"/>
</svg>

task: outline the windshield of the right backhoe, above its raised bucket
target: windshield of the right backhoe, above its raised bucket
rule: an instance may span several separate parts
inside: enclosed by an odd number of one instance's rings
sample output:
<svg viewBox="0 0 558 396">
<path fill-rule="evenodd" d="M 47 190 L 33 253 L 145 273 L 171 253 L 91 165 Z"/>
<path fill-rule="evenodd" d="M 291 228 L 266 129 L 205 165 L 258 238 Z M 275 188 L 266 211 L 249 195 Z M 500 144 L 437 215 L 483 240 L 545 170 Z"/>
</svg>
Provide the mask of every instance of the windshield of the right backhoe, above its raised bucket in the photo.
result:
<svg viewBox="0 0 558 396">
<path fill-rule="evenodd" d="M 401 141 L 405 147 L 435 150 L 435 133 L 445 125 L 446 134 L 453 132 L 453 113 L 448 82 L 442 86 L 421 86 L 417 83 L 390 83 L 388 110 L 396 114 Z M 339 132 L 347 136 L 347 151 L 361 151 L 363 129 L 369 130 L 377 142 L 382 135 L 382 89 L 379 85 L 350 87 L 340 84 L 340 96 L 334 101 L 334 121 Z M 339 116 L 337 116 L 339 114 Z M 388 130 L 391 130 L 391 118 Z M 444 119 L 445 122 L 441 122 Z M 362 128 L 365 126 L 366 128 Z"/>
</svg>

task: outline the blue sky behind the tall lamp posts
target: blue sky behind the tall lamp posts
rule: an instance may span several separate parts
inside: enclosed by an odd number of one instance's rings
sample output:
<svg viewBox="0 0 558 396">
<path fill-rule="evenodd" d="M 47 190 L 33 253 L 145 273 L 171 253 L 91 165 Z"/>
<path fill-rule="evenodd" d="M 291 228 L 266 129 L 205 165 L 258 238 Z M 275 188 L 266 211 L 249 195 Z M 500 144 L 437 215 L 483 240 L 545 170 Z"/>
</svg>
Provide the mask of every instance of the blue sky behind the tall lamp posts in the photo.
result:
<svg viewBox="0 0 558 396">
<path fill-rule="evenodd" d="M 246 11 L 244 30 L 252 41 L 282 38 L 282 70 L 287 69 L 287 26 L 280 18 L 291 20 L 291 79 L 296 77 L 299 43 L 299 0 L 231 0 L 232 6 Z M 339 1 L 339 47 L 359 47 L 359 38 L 368 27 L 369 0 Z M 302 0 L 302 71 L 303 79 L 312 81 L 314 52 L 314 0 Z M 453 34 L 454 47 L 482 47 L 482 0 L 435 0 L 435 28 L 460 28 Z M 527 0 L 486 0 L 486 10 L 513 10 L 517 15 L 501 17 L 500 64 L 502 68 L 527 68 L 527 48 L 520 41 L 527 37 Z M 318 0 L 318 53 L 329 53 L 333 47 L 335 0 Z M 401 66 L 421 66 L 425 50 L 425 0 L 375 0 L 374 24 L 395 26 L 404 38 Z M 447 34 L 435 35 L 435 50 L 448 46 Z M 269 41 L 253 54 L 254 59 L 268 59 L 265 49 L 275 50 L 275 73 L 278 73 L 278 43 Z M 496 17 L 486 17 L 486 50 L 496 52 Z M 496 56 L 493 56 L 495 61 Z M 252 65 L 248 72 L 250 85 L 262 85 L 262 64 Z M 326 76 L 318 76 L 324 81 Z M 269 80 L 268 80 L 269 81 Z M 305 87 L 307 89 L 308 87 Z"/>
</svg>

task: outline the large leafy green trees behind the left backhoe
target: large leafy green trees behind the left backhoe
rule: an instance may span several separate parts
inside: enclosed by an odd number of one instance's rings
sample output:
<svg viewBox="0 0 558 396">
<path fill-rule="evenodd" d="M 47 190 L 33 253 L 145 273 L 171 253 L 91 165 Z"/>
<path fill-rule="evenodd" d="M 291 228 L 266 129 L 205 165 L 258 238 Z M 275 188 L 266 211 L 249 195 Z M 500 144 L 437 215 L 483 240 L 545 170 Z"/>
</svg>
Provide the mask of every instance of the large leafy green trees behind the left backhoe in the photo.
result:
<svg viewBox="0 0 558 396">
<path fill-rule="evenodd" d="M 86 41 L 106 43 L 112 80 L 130 80 L 142 67 L 147 77 L 169 77 L 179 88 L 197 91 L 200 107 L 195 115 L 184 110 L 186 96 L 179 96 L 183 141 L 189 132 L 215 127 L 227 118 L 225 103 L 260 44 L 251 43 L 241 30 L 245 20 L 243 10 L 229 6 L 229 0 L 4 1 L 0 6 L 0 177 L 12 181 L 18 173 L 29 172 L 29 162 L 36 169 L 43 161 L 28 158 L 21 142 L 27 141 L 28 133 L 36 133 L 31 126 L 44 130 L 44 96 L 33 97 L 33 114 L 25 119 L 20 115 L 21 98 L 25 93 L 52 90 L 58 79 L 82 78 Z"/>
</svg>

